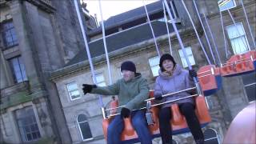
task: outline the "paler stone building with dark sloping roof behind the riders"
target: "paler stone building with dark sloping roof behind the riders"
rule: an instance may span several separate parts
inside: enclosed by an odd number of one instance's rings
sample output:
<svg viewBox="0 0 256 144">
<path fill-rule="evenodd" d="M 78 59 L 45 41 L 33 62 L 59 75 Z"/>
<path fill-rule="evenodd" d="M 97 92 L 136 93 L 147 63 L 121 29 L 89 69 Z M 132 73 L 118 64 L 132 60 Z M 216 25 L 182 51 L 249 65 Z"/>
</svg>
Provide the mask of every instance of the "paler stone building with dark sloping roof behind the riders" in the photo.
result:
<svg viewBox="0 0 256 144">
<path fill-rule="evenodd" d="M 185 1 L 191 17 L 193 18 L 197 30 L 199 31 L 203 45 L 206 47 L 206 53 L 210 57 L 210 49 L 206 43 L 206 34 L 202 30 L 202 26 L 198 20 L 197 14 L 192 1 Z M 221 62 L 225 63 L 233 54 L 241 54 L 245 51 L 255 50 L 253 47 L 254 38 L 250 38 L 248 26 L 246 25 L 246 17 L 242 11 L 241 2 L 238 0 L 226 1 L 223 6 L 218 6 L 218 1 L 197 1 L 199 13 L 202 18 L 203 26 L 206 28 L 206 19 L 209 22 L 210 28 L 214 33 L 214 41 L 218 46 Z M 178 26 L 182 41 L 186 46 L 189 54 L 190 62 L 195 70 L 200 66 L 207 65 L 206 56 L 198 43 L 198 39 L 194 34 L 194 30 L 190 24 L 190 20 L 182 6 L 181 1 L 170 1 L 170 7 L 174 8 L 174 22 Z M 244 1 L 246 14 L 249 18 L 250 27 L 255 31 L 255 2 Z M 163 19 L 162 2 L 154 2 L 147 5 L 150 14 L 150 20 L 156 35 L 158 47 L 161 53 L 170 53 L 168 36 L 166 34 L 166 24 Z M 220 22 L 219 9 L 222 10 L 223 23 L 226 34 L 226 45 L 228 54 L 226 56 L 225 46 L 222 34 L 222 25 Z M 233 14 L 235 22 L 238 22 L 238 29 L 241 30 L 238 39 L 231 37 L 234 32 L 234 24 L 227 12 Z M 142 76 L 147 78 L 150 83 L 150 88 L 154 88 L 154 80 L 158 76 L 158 54 L 154 46 L 154 39 L 150 32 L 150 26 L 146 21 L 146 13 L 143 7 L 130 10 L 123 14 L 110 17 L 105 21 L 106 25 L 106 46 L 110 57 L 111 77 L 115 82 L 121 77 L 120 66 L 123 61 L 133 61 L 142 73 Z M 176 61 L 183 67 L 187 68 L 184 56 L 181 53 L 181 48 L 178 45 L 178 40 L 174 34 L 174 30 L 169 22 L 170 40 L 172 54 Z M 210 31 L 206 28 L 206 33 Z M 93 57 L 95 73 L 98 86 L 110 85 L 108 78 L 106 56 L 104 53 L 102 42 L 102 29 L 91 30 L 87 33 L 90 38 L 89 47 L 90 54 Z M 246 40 L 246 46 L 240 46 L 241 39 Z M 210 45 L 214 47 L 213 41 L 210 39 Z M 240 51 L 239 51 L 240 50 Z M 217 54 L 214 51 L 214 57 L 217 61 Z M 214 59 L 210 57 L 210 61 L 214 64 Z M 216 64 L 219 64 L 216 62 Z M 60 70 L 54 71 L 51 75 L 51 80 L 56 83 L 58 94 L 62 103 L 66 122 L 72 142 L 88 142 L 88 143 L 105 143 L 102 135 L 102 114 L 100 105 L 98 104 L 98 96 L 95 94 L 82 93 L 83 83 L 93 83 L 92 75 L 90 74 L 90 66 L 85 50 L 81 50 L 73 59 L 70 60 Z M 226 134 L 226 130 L 230 122 L 242 108 L 248 105 L 248 102 L 255 100 L 255 73 L 246 74 L 243 76 L 222 78 L 222 89 L 206 98 L 209 106 L 212 122 L 204 128 L 206 142 L 220 143 Z M 106 107 L 109 106 L 111 97 L 103 97 L 103 103 Z M 176 143 L 192 143 L 191 134 L 179 134 L 174 136 Z M 159 138 L 154 139 L 155 143 L 159 142 Z M 161 142 L 160 142 L 161 143 Z"/>
</svg>

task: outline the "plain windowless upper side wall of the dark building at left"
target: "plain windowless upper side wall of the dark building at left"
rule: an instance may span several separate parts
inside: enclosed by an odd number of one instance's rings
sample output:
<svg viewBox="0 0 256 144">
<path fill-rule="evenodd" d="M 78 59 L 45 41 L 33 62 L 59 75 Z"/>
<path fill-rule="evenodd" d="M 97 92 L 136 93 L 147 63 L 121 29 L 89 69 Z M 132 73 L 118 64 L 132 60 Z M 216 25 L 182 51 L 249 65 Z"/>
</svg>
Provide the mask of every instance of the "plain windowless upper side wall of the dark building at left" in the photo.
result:
<svg viewBox="0 0 256 144">
<path fill-rule="evenodd" d="M 56 37 L 58 37 L 59 53 L 63 62 L 69 62 L 78 51 L 83 49 L 84 42 L 80 30 L 74 1 L 51 1 L 56 8 L 53 14 Z M 78 4 L 80 2 L 78 1 Z M 82 10 L 82 9 L 81 9 Z M 82 14 L 82 11 L 81 11 Z M 86 27 L 86 26 L 85 26 Z"/>
</svg>

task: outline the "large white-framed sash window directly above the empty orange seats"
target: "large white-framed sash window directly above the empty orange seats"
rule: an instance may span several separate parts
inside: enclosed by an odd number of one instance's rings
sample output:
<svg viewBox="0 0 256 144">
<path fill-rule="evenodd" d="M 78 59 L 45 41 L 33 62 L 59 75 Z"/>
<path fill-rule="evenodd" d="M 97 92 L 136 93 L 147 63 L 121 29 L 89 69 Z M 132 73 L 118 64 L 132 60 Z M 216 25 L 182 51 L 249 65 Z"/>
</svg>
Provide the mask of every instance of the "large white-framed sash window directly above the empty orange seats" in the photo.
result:
<svg viewBox="0 0 256 144">
<path fill-rule="evenodd" d="M 242 54 L 249 50 L 249 44 L 246 38 L 245 30 L 242 22 L 237 22 L 236 25 L 226 26 L 227 34 L 230 38 L 230 43 L 234 54 Z"/>
</svg>

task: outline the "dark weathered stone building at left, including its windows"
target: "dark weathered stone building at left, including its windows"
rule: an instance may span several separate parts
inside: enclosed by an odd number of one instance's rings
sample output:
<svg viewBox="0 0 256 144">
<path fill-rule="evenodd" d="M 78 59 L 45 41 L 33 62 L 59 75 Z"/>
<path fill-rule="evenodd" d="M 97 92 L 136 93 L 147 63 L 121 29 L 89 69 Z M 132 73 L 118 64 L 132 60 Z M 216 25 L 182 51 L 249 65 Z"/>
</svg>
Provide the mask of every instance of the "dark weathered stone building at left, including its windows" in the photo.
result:
<svg viewBox="0 0 256 144">
<path fill-rule="evenodd" d="M 74 1 L 0 0 L 0 33 L 0 143 L 70 143 L 49 76 L 82 50 Z"/>
</svg>

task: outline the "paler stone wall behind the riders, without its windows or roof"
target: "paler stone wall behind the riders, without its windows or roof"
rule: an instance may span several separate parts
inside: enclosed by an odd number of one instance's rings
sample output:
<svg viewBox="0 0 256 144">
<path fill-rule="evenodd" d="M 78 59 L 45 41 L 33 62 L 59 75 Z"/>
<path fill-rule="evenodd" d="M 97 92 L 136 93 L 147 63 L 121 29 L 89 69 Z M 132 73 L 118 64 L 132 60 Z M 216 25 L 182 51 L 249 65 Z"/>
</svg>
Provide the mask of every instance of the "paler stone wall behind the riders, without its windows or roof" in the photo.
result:
<svg viewBox="0 0 256 144">
<path fill-rule="evenodd" d="M 255 2 L 252 1 L 244 1 L 245 6 L 246 6 L 246 12 L 248 14 L 248 18 L 250 20 L 250 26 L 252 30 L 254 31 L 255 28 L 255 11 L 253 9 Z M 188 2 L 189 6 L 192 6 L 193 4 Z M 214 38 L 215 42 L 218 46 L 218 52 L 220 54 L 221 62 L 224 63 L 228 58 L 230 58 L 231 55 L 234 54 L 233 50 L 230 47 L 230 43 L 228 43 L 228 50 L 229 50 L 229 57 L 226 58 L 226 52 L 224 49 L 224 41 L 222 38 L 222 30 L 221 30 L 221 22 L 219 18 L 219 12 L 218 12 L 218 4 L 217 1 L 200 1 L 197 3 L 199 11 L 201 13 L 205 13 L 208 21 L 210 23 L 211 30 L 214 33 Z M 181 6 L 180 6 L 181 7 Z M 196 14 L 194 13 L 193 9 L 189 9 L 192 17 L 197 18 Z M 244 14 L 242 13 L 242 7 L 237 3 L 237 7 L 233 8 L 231 10 L 232 14 L 234 14 L 235 18 L 237 20 L 242 20 L 242 22 L 246 22 Z M 185 14 L 185 13 L 182 13 Z M 230 25 L 232 24 L 231 19 L 227 18 L 229 17 L 227 15 L 227 12 L 222 12 L 223 14 L 223 20 L 224 20 L 224 25 Z M 202 17 L 203 25 L 206 28 L 206 22 L 205 19 Z M 185 21 L 182 21 L 185 22 Z M 196 61 L 196 65 L 193 66 L 195 70 L 198 70 L 201 66 L 206 66 L 209 63 L 206 61 L 206 56 L 204 55 L 201 46 L 198 43 L 198 39 L 195 37 L 194 30 L 190 30 L 190 24 L 189 21 L 185 22 L 186 25 L 186 30 L 184 30 L 182 33 L 182 41 L 184 42 L 184 46 L 191 46 L 192 52 L 194 54 L 194 59 Z M 210 56 L 210 50 L 207 46 L 206 43 L 206 34 L 202 32 L 202 28 L 200 28 L 200 25 L 198 21 L 195 21 L 196 25 L 199 26 L 198 32 L 200 34 L 200 37 L 202 39 L 203 45 L 206 48 L 206 53 L 210 57 L 210 62 L 213 62 L 213 58 Z M 246 28 L 246 23 L 243 24 L 244 28 L 246 30 L 246 34 L 249 34 L 248 29 Z M 207 30 L 207 29 L 206 29 Z M 208 36 L 209 36 L 209 30 L 206 31 Z M 255 36 L 254 36 L 255 38 Z M 250 39 L 249 36 L 247 36 L 247 39 Z M 226 40 L 229 42 L 229 39 L 227 38 L 226 35 Z M 160 51 L 162 53 L 169 53 L 170 48 L 168 46 L 168 38 L 162 36 L 161 38 L 158 38 Z M 211 40 L 210 40 L 211 42 Z M 252 42 L 249 40 L 250 45 L 252 45 Z M 155 78 L 152 75 L 152 72 L 150 70 L 150 64 L 148 59 L 152 58 L 154 56 L 157 56 L 157 52 L 154 47 L 154 42 L 152 40 L 148 40 L 145 43 L 147 43 L 147 46 L 143 46 L 141 43 L 136 45 L 140 48 L 139 51 L 134 50 L 130 52 L 124 52 L 124 54 L 110 54 L 110 69 L 113 74 L 111 74 L 112 78 L 114 79 L 114 82 L 118 79 L 121 78 L 119 74 L 119 67 L 123 61 L 126 60 L 131 60 L 135 62 L 137 66 L 138 72 L 142 73 L 142 76 L 147 78 L 149 84 L 150 84 L 150 89 L 154 88 L 154 80 Z M 178 50 L 180 49 L 180 46 L 178 45 L 177 39 L 172 36 L 171 37 L 171 44 L 172 44 L 172 52 L 174 59 L 181 64 L 181 59 L 178 55 Z M 213 43 L 211 42 L 210 44 L 212 47 Z M 127 49 L 131 49 L 133 46 L 128 46 Z M 125 50 L 124 50 L 125 51 Z M 94 61 L 94 66 L 96 66 L 96 74 L 103 72 L 106 84 L 110 84 L 108 81 L 108 74 L 107 74 L 107 67 L 106 67 L 106 61 L 102 56 L 102 61 L 101 60 L 95 60 Z M 216 58 L 216 61 L 218 62 L 217 59 L 217 53 L 214 51 L 214 57 Z M 58 93 L 59 95 L 62 95 L 61 97 L 61 102 L 62 106 L 64 109 L 65 117 L 69 125 L 69 130 L 70 134 L 72 136 L 72 142 L 76 143 L 79 141 L 82 141 L 81 138 L 79 138 L 79 133 L 78 133 L 78 125 L 77 123 L 74 122 L 74 118 L 76 117 L 74 113 L 75 111 L 83 111 L 83 114 L 86 114 L 86 116 L 90 118 L 94 118 L 93 115 L 90 115 L 90 113 L 95 113 L 95 114 L 100 114 L 100 106 L 97 106 L 98 108 L 93 108 L 90 107 L 89 103 L 95 104 L 95 102 L 98 101 L 95 95 L 93 94 L 86 94 L 85 96 L 82 96 L 82 98 L 79 98 L 77 100 L 74 100 L 74 102 L 69 101 L 69 96 L 67 94 L 66 90 L 66 84 L 69 82 L 77 82 L 78 84 L 78 89 L 80 91 L 80 94 L 82 94 L 82 83 L 92 83 L 91 79 L 91 74 L 90 74 L 90 68 L 88 64 L 80 63 L 79 68 L 76 70 L 70 70 L 69 74 L 63 73 L 63 77 L 60 76 L 58 79 L 54 79 L 53 81 L 56 83 L 58 87 Z M 68 70 L 68 68 L 64 68 L 64 70 Z M 60 70 L 62 71 L 62 70 Z M 60 72 L 59 74 L 62 74 Z M 235 87 L 235 89 L 234 89 Z M 86 99 L 85 97 L 90 97 L 91 99 Z M 110 101 L 110 98 L 103 99 L 105 104 L 108 104 Z M 232 119 L 238 114 L 242 108 L 248 105 L 248 98 L 246 95 L 246 91 L 244 89 L 244 83 L 242 82 L 242 77 L 237 76 L 237 77 L 230 77 L 230 78 L 222 78 L 222 89 L 219 90 L 216 94 L 207 97 L 206 101 L 209 105 L 209 110 L 210 110 L 210 115 L 212 118 L 212 122 L 205 128 L 203 128 L 203 131 L 213 129 L 216 130 L 217 136 L 218 136 L 218 141 L 222 142 L 226 130 L 230 126 L 230 122 Z M 79 103 L 79 104 L 78 104 Z M 92 112 L 90 112 L 92 111 Z M 71 119 L 71 120 L 70 120 Z M 73 120 L 73 121 L 72 121 Z M 102 118 L 98 117 L 98 120 L 95 122 L 101 123 Z M 90 123 L 90 121 L 89 121 Z M 71 129 L 72 127 L 73 129 Z M 94 140 L 91 140 L 90 142 L 98 142 L 98 138 L 100 135 L 102 135 L 102 128 L 93 125 L 90 123 L 90 130 L 92 131 Z M 98 130 L 98 133 L 94 133 L 95 130 Z M 174 140 L 177 141 L 178 143 L 193 143 L 193 137 L 191 134 L 179 134 L 174 136 Z M 103 141 L 104 142 L 104 141 Z M 160 138 L 155 138 L 154 143 L 161 143 Z"/>
</svg>

